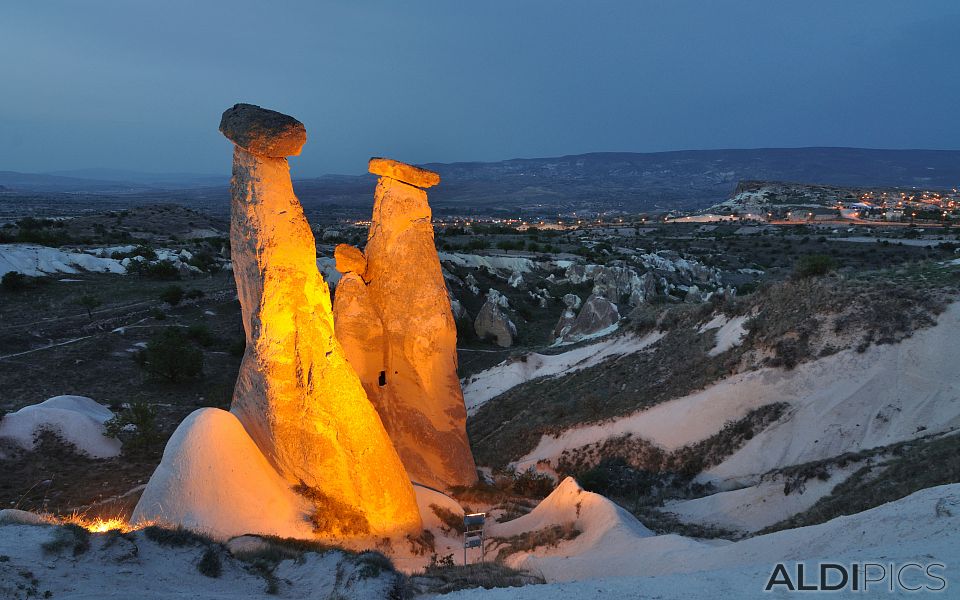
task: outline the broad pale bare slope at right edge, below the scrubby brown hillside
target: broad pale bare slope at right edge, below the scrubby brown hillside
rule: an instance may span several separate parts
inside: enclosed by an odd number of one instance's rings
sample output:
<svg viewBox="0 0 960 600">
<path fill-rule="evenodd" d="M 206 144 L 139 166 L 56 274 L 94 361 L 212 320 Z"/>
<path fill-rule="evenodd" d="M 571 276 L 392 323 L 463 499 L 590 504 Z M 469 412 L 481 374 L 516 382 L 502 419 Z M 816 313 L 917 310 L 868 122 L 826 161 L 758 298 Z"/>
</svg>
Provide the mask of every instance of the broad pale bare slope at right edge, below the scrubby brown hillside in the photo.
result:
<svg viewBox="0 0 960 600">
<path fill-rule="evenodd" d="M 789 409 L 706 478 L 753 482 L 771 469 L 960 427 L 960 304 L 899 344 L 845 350 L 791 371 L 765 368 L 613 421 L 544 436 L 517 461 L 526 468 L 564 450 L 632 434 L 667 450 L 703 440 L 772 402 Z"/>
</svg>

